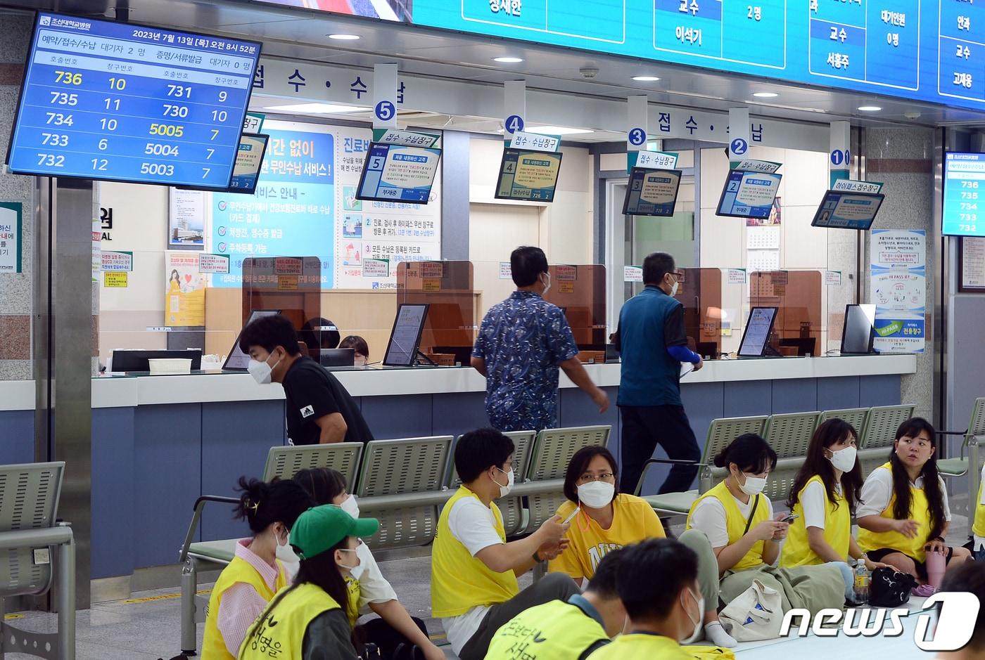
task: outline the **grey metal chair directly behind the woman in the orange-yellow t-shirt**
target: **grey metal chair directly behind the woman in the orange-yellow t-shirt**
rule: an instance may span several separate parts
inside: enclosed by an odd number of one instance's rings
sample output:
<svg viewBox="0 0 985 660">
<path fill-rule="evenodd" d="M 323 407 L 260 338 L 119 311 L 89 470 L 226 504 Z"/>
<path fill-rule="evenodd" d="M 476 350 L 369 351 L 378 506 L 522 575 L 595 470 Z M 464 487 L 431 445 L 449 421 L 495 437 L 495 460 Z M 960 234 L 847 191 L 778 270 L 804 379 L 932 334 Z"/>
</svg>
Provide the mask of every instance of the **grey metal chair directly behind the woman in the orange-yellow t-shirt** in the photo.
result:
<svg viewBox="0 0 985 660">
<path fill-rule="evenodd" d="M 530 515 L 524 531 L 536 530 L 566 502 L 564 473 L 571 456 L 584 447 L 606 447 L 611 434 L 611 426 L 545 429 L 537 434 L 527 478 L 514 489 L 518 496 L 527 497 Z"/>
</svg>

